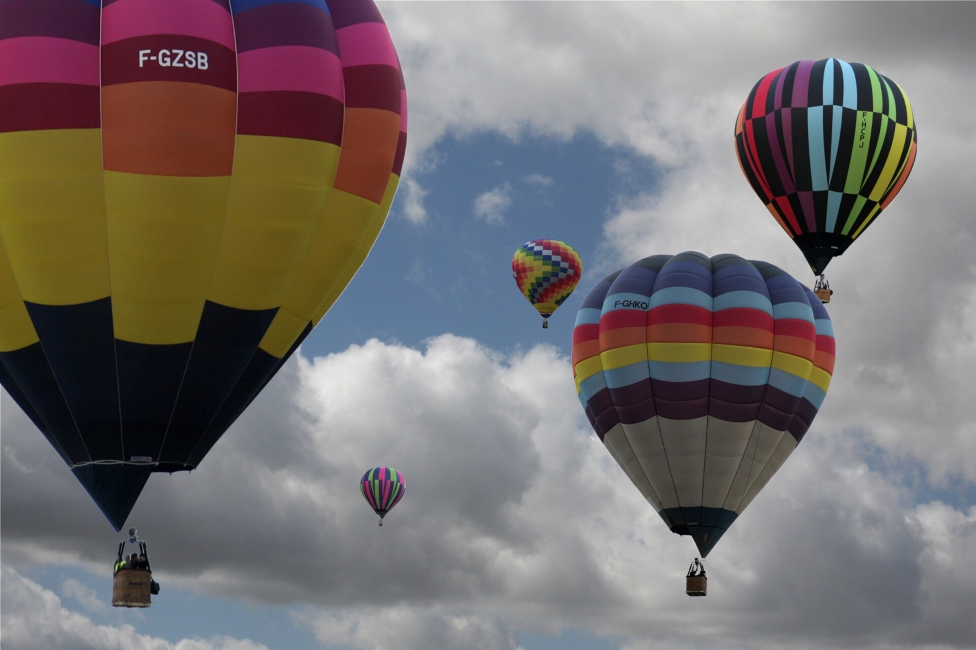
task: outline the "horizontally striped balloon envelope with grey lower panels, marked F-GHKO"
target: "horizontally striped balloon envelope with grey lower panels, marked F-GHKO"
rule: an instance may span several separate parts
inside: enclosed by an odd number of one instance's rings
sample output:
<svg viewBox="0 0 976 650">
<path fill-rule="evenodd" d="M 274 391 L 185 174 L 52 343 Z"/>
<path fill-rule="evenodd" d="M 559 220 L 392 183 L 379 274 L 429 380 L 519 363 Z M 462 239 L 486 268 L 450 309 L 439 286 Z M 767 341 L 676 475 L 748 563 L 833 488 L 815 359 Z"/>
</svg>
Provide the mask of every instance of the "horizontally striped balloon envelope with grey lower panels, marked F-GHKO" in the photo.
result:
<svg viewBox="0 0 976 650">
<path fill-rule="evenodd" d="M 813 292 L 737 255 L 654 255 L 590 290 L 573 330 L 596 435 L 702 557 L 803 439 L 834 370 Z"/>
</svg>

